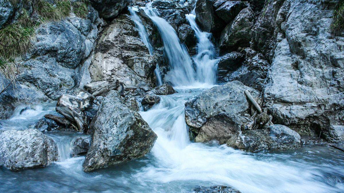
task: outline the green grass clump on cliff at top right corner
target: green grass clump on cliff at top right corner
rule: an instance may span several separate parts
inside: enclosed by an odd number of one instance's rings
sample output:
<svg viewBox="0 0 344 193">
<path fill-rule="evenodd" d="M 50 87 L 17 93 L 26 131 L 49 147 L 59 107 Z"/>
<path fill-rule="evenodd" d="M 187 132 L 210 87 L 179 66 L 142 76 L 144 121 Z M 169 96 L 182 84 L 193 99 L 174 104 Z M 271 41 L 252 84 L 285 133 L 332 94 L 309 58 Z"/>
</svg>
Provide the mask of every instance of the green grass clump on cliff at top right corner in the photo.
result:
<svg viewBox="0 0 344 193">
<path fill-rule="evenodd" d="M 341 0 L 337 8 L 333 11 L 333 20 L 330 25 L 330 31 L 337 36 L 342 33 L 344 29 L 344 0 Z"/>
</svg>

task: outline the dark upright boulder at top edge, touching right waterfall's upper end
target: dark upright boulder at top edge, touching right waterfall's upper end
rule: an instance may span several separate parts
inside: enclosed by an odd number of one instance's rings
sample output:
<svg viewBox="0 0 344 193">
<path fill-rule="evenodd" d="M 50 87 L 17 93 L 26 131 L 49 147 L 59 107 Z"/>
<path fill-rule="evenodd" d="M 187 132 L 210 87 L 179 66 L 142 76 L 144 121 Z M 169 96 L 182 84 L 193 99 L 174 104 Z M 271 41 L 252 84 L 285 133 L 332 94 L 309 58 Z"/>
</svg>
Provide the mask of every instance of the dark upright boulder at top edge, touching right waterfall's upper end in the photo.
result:
<svg viewBox="0 0 344 193">
<path fill-rule="evenodd" d="M 198 0 L 196 2 L 196 23 L 202 31 L 219 33 L 225 22 L 215 14 L 212 0 Z"/>
</svg>

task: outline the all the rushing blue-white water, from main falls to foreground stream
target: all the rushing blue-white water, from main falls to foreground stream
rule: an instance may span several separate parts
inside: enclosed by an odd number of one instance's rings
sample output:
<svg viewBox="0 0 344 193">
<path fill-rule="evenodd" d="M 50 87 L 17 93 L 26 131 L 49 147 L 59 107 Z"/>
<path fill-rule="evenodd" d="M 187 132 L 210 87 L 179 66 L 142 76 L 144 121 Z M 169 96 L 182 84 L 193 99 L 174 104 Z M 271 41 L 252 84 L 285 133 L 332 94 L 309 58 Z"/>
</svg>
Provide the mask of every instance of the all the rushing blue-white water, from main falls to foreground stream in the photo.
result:
<svg viewBox="0 0 344 193">
<path fill-rule="evenodd" d="M 160 96 L 160 103 L 140 112 L 158 135 L 150 153 L 141 159 L 85 173 L 85 156 L 71 157 L 70 152 L 71 141 L 84 134 L 49 132 L 47 135 L 58 143 L 61 160 L 45 168 L 20 172 L 0 167 L 1 192 L 192 192 L 200 185 L 233 186 L 241 192 L 344 191 L 344 154 L 331 147 L 246 153 L 216 141 L 192 143 L 185 124 L 184 103 L 216 83 L 217 55 L 211 34 L 198 29 L 194 15 L 187 15 L 198 39 L 198 53 L 193 58 L 195 70 L 171 25 L 152 8 L 144 10 L 159 28 L 171 80 L 178 91 Z M 21 114 L 19 108 L 12 118 L 0 121 L 0 129 L 28 128 L 29 121 L 33 123 L 44 114 L 55 113 L 53 106 L 42 104 Z"/>
</svg>

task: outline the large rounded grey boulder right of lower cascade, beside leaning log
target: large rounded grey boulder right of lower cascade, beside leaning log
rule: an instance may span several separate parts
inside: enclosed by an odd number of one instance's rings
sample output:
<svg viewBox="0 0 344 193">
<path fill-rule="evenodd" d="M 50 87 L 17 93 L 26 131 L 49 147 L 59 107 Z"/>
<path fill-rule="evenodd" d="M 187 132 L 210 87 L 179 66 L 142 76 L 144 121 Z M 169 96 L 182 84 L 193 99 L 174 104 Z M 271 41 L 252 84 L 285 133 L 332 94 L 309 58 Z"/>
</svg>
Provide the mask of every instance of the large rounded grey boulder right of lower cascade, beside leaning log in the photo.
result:
<svg viewBox="0 0 344 193">
<path fill-rule="evenodd" d="M 249 90 L 254 98 L 258 92 L 244 86 L 239 81 L 228 82 L 225 85 L 213 87 L 193 97 L 185 103 L 186 124 L 201 128 L 207 120 L 222 112 L 240 115 L 249 110 L 249 103 L 244 94 Z"/>
</svg>

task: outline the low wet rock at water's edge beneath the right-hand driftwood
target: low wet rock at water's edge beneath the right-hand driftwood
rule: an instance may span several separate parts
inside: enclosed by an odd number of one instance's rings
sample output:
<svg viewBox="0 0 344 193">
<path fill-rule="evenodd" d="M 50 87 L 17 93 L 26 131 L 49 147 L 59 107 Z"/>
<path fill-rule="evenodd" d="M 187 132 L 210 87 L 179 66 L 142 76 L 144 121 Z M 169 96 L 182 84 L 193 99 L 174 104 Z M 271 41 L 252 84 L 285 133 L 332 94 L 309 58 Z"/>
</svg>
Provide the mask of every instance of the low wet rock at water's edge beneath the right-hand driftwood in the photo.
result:
<svg viewBox="0 0 344 193">
<path fill-rule="evenodd" d="M 229 138 L 226 144 L 248 152 L 296 149 L 302 145 L 300 135 L 284 125 L 240 131 Z"/>
</svg>

